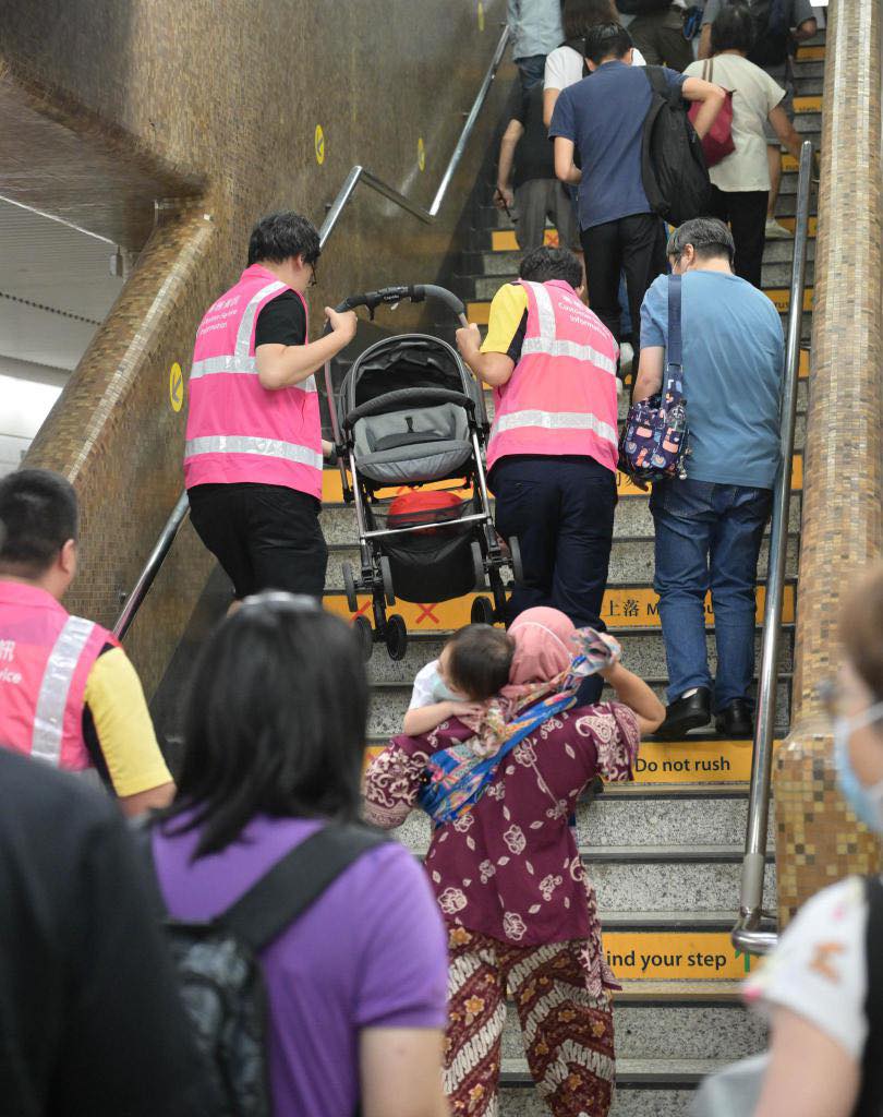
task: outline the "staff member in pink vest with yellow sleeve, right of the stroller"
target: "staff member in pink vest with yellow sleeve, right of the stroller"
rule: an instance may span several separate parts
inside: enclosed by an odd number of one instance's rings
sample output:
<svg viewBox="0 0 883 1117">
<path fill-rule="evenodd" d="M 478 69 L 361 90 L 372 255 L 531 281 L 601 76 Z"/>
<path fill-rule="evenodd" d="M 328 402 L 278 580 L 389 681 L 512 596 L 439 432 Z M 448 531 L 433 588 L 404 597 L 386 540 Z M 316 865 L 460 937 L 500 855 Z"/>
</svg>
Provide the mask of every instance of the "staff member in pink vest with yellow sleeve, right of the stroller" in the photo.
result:
<svg viewBox="0 0 883 1117">
<path fill-rule="evenodd" d="M 508 621 L 546 605 L 577 628 L 603 629 L 616 507 L 618 349 L 579 299 L 573 252 L 537 248 L 521 260 L 519 276 L 493 296 L 482 345 L 478 326 L 457 332 L 463 360 L 493 388 L 488 468 L 497 529 L 518 536 L 524 564 Z M 597 700 L 601 685 L 587 680 L 580 701 Z"/>
</svg>

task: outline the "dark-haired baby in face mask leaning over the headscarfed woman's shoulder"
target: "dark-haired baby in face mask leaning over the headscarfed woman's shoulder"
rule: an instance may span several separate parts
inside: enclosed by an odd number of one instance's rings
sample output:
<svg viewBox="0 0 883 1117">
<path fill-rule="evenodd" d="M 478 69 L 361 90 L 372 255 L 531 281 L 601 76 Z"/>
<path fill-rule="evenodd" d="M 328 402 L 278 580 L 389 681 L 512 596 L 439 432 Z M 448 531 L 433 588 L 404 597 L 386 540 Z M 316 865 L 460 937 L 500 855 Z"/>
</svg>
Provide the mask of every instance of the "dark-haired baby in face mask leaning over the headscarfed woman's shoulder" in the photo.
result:
<svg viewBox="0 0 883 1117">
<path fill-rule="evenodd" d="M 453 717 L 480 717 L 482 703 L 509 681 L 514 651 L 501 629 L 490 624 L 458 629 L 439 658 L 417 671 L 403 731 L 419 737 Z"/>
</svg>

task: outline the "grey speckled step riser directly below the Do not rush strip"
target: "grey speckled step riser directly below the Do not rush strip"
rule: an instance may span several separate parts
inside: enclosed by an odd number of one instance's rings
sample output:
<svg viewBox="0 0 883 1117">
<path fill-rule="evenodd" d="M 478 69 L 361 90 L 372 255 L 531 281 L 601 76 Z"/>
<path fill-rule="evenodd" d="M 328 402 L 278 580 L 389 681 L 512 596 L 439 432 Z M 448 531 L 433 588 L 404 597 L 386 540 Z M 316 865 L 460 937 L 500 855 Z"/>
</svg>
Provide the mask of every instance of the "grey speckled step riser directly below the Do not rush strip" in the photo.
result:
<svg viewBox="0 0 883 1117">
<path fill-rule="evenodd" d="M 586 798 L 576 811 L 576 839 L 580 848 L 697 846 L 739 848 L 745 842 L 748 800 L 742 793 L 693 786 L 690 794 L 652 794 L 637 784 L 631 795 L 605 791 Z M 626 785 L 623 785 L 626 786 Z M 643 792 L 643 793 L 642 793 Z M 432 825 L 429 815 L 412 811 L 393 831 L 394 837 L 419 857 L 429 849 Z M 772 820 L 768 848 L 775 848 Z"/>
</svg>

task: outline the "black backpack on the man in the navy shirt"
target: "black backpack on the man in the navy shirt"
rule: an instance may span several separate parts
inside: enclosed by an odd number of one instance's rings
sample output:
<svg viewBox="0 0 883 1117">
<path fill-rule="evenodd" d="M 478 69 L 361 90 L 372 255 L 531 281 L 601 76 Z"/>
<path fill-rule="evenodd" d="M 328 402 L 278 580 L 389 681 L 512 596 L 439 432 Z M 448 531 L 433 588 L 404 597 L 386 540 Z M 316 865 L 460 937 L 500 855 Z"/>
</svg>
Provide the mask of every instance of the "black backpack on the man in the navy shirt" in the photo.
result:
<svg viewBox="0 0 883 1117">
<path fill-rule="evenodd" d="M 641 178 L 654 213 L 681 225 L 708 213 L 711 180 L 702 142 L 687 115 L 681 92 L 669 85 L 661 66 L 645 66 L 650 108 L 641 143 Z"/>
</svg>

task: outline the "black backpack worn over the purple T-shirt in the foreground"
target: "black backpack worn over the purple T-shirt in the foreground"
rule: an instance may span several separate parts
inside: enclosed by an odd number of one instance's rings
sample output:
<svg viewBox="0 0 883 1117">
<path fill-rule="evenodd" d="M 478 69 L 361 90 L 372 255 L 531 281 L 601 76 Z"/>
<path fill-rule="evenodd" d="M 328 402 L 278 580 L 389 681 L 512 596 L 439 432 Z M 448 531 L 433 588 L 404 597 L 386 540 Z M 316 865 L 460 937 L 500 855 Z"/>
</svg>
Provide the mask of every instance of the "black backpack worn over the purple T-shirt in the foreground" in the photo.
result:
<svg viewBox="0 0 883 1117">
<path fill-rule="evenodd" d="M 146 827 L 140 840 L 152 868 Z M 170 917 L 155 889 L 182 999 L 218 1099 L 215 1117 L 272 1113 L 266 1054 L 269 1013 L 259 952 L 355 860 L 386 840 L 364 827 L 324 827 L 208 923 Z"/>
</svg>

